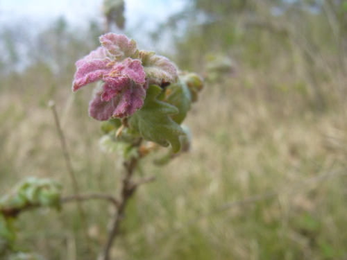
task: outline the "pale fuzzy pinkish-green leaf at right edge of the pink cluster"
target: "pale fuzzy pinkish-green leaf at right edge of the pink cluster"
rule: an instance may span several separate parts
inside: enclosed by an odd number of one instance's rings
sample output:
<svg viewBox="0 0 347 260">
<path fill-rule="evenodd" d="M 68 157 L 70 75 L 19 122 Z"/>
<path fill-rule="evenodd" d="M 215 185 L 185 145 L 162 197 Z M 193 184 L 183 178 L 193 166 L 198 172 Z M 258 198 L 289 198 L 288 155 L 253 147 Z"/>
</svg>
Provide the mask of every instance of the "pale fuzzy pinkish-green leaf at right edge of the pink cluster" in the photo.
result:
<svg viewBox="0 0 347 260">
<path fill-rule="evenodd" d="M 176 67 L 168 58 L 155 55 L 153 51 L 140 51 L 139 58 L 147 78 L 158 78 L 171 83 L 177 81 Z"/>
</svg>

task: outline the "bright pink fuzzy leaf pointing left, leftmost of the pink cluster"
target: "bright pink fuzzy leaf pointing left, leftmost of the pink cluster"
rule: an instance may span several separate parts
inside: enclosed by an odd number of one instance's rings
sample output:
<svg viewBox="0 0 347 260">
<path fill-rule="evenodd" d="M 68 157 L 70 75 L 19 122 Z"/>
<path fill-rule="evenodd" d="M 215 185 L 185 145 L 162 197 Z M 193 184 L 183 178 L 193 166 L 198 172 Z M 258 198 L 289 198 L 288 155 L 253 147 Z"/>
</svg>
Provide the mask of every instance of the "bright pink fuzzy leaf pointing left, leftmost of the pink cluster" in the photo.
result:
<svg viewBox="0 0 347 260">
<path fill-rule="evenodd" d="M 112 64 L 110 64 L 110 62 L 112 62 L 112 60 L 109 58 L 81 62 L 74 76 L 72 90 L 75 92 L 77 89 L 89 83 L 101 80 L 105 74 L 110 73 L 112 69 Z"/>
</svg>

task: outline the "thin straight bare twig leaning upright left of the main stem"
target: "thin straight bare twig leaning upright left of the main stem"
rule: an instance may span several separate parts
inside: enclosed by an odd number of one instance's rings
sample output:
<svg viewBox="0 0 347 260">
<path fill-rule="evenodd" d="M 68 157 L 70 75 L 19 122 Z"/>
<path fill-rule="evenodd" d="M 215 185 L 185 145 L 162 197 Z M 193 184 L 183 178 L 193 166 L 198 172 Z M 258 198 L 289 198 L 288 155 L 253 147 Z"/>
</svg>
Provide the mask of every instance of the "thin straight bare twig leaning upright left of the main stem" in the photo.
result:
<svg viewBox="0 0 347 260">
<path fill-rule="evenodd" d="M 62 132 L 62 128 L 60 127 L 58 112 L 56 110 L 56 104 L 54 103 L 54 101 L 49 101 L 49 107 L 51 107 L 51 110 L 52 110 L 53 116 L 54 116 L 54 121 L 56 122 L 56 128 L 58 130 L 60 144 L 62 146 L 62 153 L 64 155 L 65 164 L 67 167 L 67 173 L 69 173 L 69 177 L 71 179 L 74 195 L 78 197 L 78 196 L 80 196 L 78 182 L 76 179 L 74 168 L 72 168 L 69 151 L 67 150 L 67 143 L 66 143 L 65 135 L 64 135 L 64 132 Z M 81 218 L 81 224 L 83 227 L 83 235 L 85 236 L 85 240 L 87 241 L 87 250 L 90 252 L 90 254 L 92 254 L 90 237 L 89 237 L 88 231 L 87 231 L 87 220 L 86 220 L 86 216 L 85 216 L 85 211 L 83 209 L 83 205 L 80 202 L 80 200 L 76 200 L 76 204 L 77 204 L 78 212 L 79 212 L 80 218 Z"/>
</svg>

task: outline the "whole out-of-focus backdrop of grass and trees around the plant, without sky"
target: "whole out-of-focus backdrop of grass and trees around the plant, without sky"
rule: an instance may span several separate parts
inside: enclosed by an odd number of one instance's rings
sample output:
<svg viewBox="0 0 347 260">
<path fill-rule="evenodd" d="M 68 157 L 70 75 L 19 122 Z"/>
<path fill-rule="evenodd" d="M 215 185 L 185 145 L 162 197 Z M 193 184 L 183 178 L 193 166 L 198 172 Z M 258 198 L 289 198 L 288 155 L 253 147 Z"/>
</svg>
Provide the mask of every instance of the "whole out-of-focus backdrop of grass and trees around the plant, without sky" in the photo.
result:
<svg viewBox="0 0 347 260">
<path fill-rule="evenodd" d="M 187 0 L 149 32 L 182 69 L 208 78 L 211 60 L 233 65 L 205 84 L 185 121 L 192 150 L 163 167 L 146 158 L 144 174 L 157 178 L 130 203 L 115 259 L 347 259 L 346 12 L 343 0 Z M 58 19 L 35 39 L 18 26 L 1 28 L 1 194 L 29 175 L 71 194 L 54 100 L 81 190 L 117 195 L 121 165 L 101 153 L 87 116 L 92 88 L 71 94 L 74 62 L 99 45 L 101 25 L 74 31 Z M 109 207 L 85 202 L 95 254 Z M 17 225 L 25 250 L 87 257 L 74 203 L 25 212 Z"/>
</svg>

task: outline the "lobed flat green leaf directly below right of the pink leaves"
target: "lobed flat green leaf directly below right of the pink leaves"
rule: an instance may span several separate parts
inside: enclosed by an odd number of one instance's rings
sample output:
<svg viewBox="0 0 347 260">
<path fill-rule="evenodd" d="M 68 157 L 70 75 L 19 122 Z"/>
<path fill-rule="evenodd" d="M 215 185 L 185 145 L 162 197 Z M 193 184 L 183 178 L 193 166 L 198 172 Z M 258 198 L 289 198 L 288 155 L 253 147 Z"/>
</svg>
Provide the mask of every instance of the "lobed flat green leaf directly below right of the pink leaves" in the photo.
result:
<svg viewBox="0 0 347 260">
<path fill-rule="evenodd" d="M 128 123 L 130 128 L 139 132 L 147 141 L 165 147 L 171 144 L 172 150 L 177 153 L 180 150 L 180 135 L 185 135 L 185 132 L 170 117 L 178 114 L 177 107 L 156 99 L 160 92 L 160 87 L 149 86 L 144 105 L 130 117 Z"/>
</svg>

